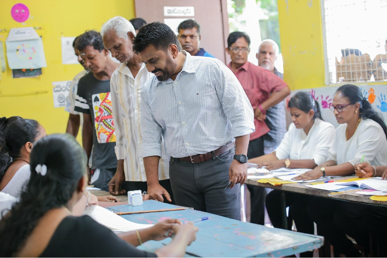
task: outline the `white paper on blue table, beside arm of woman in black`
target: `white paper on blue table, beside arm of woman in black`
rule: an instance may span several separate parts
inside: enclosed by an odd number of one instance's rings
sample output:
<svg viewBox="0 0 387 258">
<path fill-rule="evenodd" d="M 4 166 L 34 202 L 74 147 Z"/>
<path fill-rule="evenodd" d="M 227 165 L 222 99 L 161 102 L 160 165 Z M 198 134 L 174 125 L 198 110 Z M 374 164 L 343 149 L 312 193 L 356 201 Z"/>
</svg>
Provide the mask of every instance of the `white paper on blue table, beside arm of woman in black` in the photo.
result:
<svg viewBox="0 0 387 258">
<path fill-rule="evenodd" d="M 153 224 L 138 224 L 131 222 L 98 205 L 91 205 L 86 209 L 84 214 L 89 215 L 96 222 L 113 231 L 127 232 L 136 229 L 146 229 L 153 226 Z"/>
</svg>

